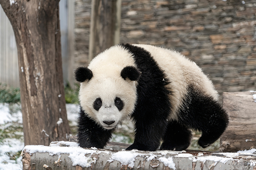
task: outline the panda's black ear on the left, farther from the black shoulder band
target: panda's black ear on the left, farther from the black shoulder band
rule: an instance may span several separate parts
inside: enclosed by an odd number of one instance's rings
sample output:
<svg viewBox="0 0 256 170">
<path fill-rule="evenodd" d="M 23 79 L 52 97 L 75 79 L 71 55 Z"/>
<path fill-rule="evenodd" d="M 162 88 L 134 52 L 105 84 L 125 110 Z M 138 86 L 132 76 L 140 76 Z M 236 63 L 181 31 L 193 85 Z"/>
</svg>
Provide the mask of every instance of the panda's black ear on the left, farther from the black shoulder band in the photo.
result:
<svg viewBox="0 0 256 170">
<path fill-rule="evenodd" d="M 87 67 L 78 67 L 75 69 L 75 80 L 83 83 L 93 77 L 93 72 Z"/>
</svg>

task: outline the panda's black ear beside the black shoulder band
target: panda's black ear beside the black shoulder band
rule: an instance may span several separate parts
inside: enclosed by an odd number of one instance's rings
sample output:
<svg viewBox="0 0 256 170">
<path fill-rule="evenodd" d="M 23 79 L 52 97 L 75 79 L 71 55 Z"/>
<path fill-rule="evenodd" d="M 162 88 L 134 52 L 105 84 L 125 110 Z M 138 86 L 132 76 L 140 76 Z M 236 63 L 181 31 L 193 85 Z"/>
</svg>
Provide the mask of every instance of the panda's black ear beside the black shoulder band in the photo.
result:
<svg viewBox="0 0 256 170">
<path fill-rule="evenodd" d="M 126 66 L 121 71 L 121 77 L 123 79 L 130 79 L 131 81 L 137 81 L 139 80 L 141 75 L 141 72 L 134 66 Z"/>
</svg>

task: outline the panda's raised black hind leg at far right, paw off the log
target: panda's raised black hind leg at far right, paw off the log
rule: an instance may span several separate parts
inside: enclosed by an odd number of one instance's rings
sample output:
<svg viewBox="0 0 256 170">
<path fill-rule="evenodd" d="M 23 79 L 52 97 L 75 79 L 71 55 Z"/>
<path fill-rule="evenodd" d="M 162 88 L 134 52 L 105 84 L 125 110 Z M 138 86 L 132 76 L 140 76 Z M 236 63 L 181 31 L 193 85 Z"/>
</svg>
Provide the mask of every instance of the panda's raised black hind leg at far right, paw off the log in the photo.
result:
<svg viewBox="0 0 256 170">
<path fill-rule="evenodd" d="M 180 123 L 202 132 L 198 143 L 203 148 L 215 142 L 227 128 L 228 114 L 221 104 L 203 95 L 192 85 L 187 88 L 182 108 L 179 113 Z"/>
</svg>

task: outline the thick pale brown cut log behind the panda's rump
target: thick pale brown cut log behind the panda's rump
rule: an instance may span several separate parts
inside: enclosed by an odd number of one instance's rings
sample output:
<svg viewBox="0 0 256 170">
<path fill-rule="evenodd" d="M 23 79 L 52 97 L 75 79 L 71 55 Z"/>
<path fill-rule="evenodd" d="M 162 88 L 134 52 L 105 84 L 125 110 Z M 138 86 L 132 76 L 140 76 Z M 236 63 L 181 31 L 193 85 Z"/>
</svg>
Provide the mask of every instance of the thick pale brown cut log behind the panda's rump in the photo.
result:
<svg viewBox="0 0 256 170">
<path fill-rule="evenodd" d="M 220 142 L 221 152 L 249 150 L 256 146 L 256 91 L 223 92 L 229 125 Z"/>
</svg>

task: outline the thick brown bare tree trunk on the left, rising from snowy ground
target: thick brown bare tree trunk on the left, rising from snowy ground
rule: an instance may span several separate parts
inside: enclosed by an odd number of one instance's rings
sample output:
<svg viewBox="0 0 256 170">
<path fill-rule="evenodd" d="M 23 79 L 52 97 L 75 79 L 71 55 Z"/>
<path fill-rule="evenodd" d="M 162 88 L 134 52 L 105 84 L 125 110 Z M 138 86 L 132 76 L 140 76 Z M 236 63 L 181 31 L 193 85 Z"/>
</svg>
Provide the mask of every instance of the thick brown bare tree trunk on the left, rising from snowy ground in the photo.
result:
<svg viewBox="0 0 256 170">
<path fill-rule="evenodd" d="M 25 145 L 68 140 L 58 0 L 0 0 L 18 50 Z"/>
</svg>

